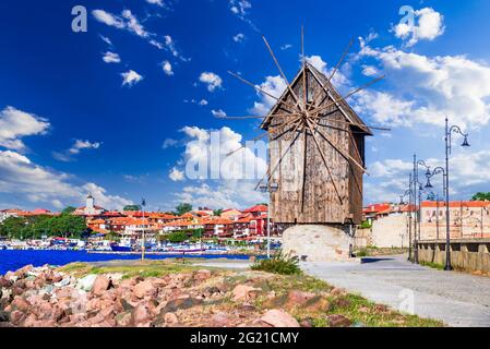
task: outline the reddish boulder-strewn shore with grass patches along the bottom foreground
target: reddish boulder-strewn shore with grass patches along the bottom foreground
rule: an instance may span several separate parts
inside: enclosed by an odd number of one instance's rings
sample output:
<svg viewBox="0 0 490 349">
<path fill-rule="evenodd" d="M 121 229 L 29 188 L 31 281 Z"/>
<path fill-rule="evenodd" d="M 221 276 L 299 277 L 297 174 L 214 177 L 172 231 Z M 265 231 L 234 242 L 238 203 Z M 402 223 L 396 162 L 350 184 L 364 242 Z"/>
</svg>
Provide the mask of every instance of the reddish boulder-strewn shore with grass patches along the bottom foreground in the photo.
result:
<svg viewBox="0 0 490 349">
<path fill-rule="evenodd" d="M 179 268 L 165 264 L 158 266 L 162 272 L 153 272 L 154 266 L 148 272 L 134 266 L 127 273 L 87 265 L 25 266 L 0 277 L 0 327 L 366 325 L 343 314 L 342 309 L 355 302 L 344 290 L 312 279 L 288 284 L 284 277 L 260 272 Z M 147 276 L 152 274 L 156 276 Z M 386 306 L 357 305 L 366 318 L 374 312 L 394 324 L 410 324 Z"/>
</svg>

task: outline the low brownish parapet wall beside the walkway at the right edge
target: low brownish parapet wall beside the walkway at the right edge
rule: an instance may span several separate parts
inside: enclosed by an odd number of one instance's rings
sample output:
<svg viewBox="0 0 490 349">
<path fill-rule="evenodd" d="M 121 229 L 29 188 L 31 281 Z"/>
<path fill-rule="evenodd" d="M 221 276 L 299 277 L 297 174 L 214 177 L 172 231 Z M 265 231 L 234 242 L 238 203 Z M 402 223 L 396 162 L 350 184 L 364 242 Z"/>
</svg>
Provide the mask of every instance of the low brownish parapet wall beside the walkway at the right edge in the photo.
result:
<svg viewBox="0 0 490 349">
<path fill-rule="evenodd" d="M 420 241 L 419 262 L 445 265 L 445 241 Z M 490 273 L 490 239 L 454 240 L 451 265 L 455 269 Z"/>
</svg>

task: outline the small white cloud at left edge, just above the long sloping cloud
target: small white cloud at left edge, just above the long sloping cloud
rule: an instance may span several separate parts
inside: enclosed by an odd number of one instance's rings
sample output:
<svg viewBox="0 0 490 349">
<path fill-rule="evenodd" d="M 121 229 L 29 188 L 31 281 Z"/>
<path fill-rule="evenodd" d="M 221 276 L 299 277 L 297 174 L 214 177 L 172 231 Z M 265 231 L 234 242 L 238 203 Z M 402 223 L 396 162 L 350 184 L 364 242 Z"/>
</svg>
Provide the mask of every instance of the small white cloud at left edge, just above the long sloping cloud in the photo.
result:
<svg viewBox="0 0 490 349">
<path fill-rule="evenodd" d="M 45 134 L 48 129 L 49 122 L 34 113 L 13 107 L 0 111 L 0 146 L 5 148 L 24 151 L 26 147 L 22 137 Z"/>
</svg>

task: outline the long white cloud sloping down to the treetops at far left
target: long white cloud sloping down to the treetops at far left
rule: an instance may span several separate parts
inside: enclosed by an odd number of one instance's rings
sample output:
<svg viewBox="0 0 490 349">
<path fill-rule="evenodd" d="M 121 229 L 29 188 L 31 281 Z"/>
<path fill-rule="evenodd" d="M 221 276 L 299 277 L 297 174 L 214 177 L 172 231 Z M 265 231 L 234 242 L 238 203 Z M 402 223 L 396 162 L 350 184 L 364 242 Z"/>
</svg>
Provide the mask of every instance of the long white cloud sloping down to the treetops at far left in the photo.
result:
<svg viewBox="0 0 490 349">
<path fill-rule="evenodd" d="M 72 184 L 72 179 L 70 174 L 38 166 L 19 153 L 0 151 L 0 193 L 57 208 L 83 204 L 87 192 L 92 192 L 96 204 L 106 208 L 121 208 L 130 203 L 121 196 L 108 195 L 94 183 Z"/>
</svg>

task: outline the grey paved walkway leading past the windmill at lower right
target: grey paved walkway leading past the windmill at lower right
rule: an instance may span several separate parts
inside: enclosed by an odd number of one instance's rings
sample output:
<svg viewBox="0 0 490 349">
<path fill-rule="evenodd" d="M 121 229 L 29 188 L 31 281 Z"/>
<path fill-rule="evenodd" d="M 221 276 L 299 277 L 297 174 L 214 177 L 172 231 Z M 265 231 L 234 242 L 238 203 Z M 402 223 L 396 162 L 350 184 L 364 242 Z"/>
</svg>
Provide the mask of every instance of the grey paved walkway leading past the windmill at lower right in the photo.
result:
<svg viewBox="0 0 490 349">
<path fill-rule="evenodd" d="M 411 306 L 421 317 L 450 326 L 490 327 L 490 278 L 414 265 L 405 256 L 367 262 L 302 263 L 301 267 L 374 302 L 398 310 Z"/>
</svg>

